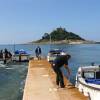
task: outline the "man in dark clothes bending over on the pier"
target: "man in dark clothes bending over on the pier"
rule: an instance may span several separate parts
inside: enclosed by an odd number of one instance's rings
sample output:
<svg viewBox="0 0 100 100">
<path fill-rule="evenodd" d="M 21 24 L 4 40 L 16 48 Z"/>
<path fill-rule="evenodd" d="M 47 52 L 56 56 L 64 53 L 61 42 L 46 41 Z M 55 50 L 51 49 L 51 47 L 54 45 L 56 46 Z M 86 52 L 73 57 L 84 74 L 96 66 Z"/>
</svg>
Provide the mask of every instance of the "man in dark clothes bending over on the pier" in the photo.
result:
<svg viewBox="0 0 100 100">
<path fill-rule="evenodd" d="M 63 55 L 57 56 L 57 58 L 52 62 L 52 68 L 56 73 L 56 84 L 58 87 L 60 85 L 61 88 L 65 88 L 61 67 L 64 66 L 68 71 L 68 75 L 70 75 L 70 69 L 68 67 L 68 60 L 70 58 L 71 56 L 65 53 Z"/>
</svg>

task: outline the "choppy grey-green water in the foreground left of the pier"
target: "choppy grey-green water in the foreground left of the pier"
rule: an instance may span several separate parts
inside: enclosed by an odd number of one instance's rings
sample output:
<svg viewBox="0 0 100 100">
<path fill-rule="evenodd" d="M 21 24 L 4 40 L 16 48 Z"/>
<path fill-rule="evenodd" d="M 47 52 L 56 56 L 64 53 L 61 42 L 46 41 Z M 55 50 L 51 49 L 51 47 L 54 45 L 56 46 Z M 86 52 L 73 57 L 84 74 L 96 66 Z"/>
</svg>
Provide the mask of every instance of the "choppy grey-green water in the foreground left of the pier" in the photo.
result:
<svg viewBox="0 0 100 100">
<path fill-rule="evenodd" d="M 0 67 L 0 100 L 22 100 L 27 65 Z"/>
</svg>

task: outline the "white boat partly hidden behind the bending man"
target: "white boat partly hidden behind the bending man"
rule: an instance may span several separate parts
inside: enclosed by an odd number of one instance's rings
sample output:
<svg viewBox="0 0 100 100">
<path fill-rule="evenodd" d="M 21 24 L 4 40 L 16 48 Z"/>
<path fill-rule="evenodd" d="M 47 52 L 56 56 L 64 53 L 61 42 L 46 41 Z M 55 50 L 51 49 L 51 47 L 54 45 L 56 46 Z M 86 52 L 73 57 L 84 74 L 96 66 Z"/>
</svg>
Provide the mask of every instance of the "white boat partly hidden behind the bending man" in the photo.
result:
<svg viewBox="0 0 100 100">
<path fill-rule="evenodd" d="M 58 55 L 61 55 L 62 53 L 65 53 L 63 50 L 61 49 L 52 49 L 49 51 L 48 55 L 47 55 L 47 61 L 52 62 L 56 59 L 56 57 Z"/>
</svg>

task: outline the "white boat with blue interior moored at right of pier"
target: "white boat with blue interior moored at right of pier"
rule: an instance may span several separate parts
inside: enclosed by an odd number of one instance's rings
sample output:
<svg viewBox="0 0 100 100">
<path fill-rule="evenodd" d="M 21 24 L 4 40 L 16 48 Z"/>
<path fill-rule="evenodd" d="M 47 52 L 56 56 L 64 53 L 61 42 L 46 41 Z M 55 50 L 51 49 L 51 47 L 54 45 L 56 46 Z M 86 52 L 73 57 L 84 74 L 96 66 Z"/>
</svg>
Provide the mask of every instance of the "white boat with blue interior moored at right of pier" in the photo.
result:
<svg viewBox="0 0 100 100">
<path fill-rule="evenodd" d="M 76 74 L 75 87 L 90 100 L 100 99 L 100 65 L 82 66 Z"/>
</svg>

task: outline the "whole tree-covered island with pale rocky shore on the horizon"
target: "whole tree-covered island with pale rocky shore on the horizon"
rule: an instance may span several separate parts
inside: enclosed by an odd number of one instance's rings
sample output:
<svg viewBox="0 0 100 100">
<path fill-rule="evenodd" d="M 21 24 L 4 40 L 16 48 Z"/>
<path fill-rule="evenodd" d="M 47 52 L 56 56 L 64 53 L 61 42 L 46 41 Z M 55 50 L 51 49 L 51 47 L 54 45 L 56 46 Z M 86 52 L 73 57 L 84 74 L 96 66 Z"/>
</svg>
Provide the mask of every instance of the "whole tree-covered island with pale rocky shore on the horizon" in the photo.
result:
<svg viewBox="0 0 100 100">
<path fill-rule="evenodd" d="M 95 41 L 85 40 L 79 35 L 68 32 L 65 28 L 58 27 L 50 33 L 44 33 L 41 39 L 33 41 L 32 43 L 43 43 L 43 44 L 91 44 L 96 43 Z"/>
</svg>

